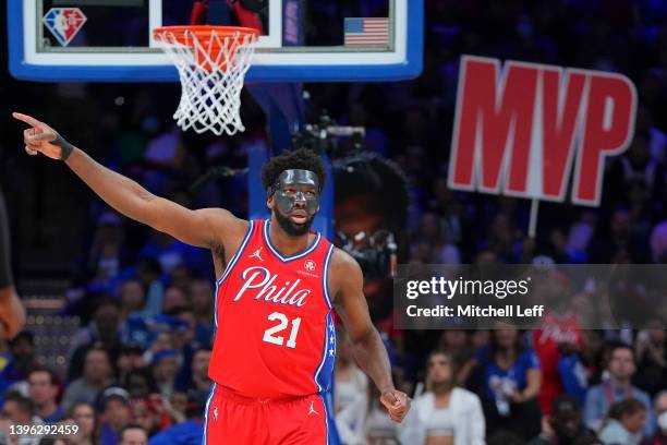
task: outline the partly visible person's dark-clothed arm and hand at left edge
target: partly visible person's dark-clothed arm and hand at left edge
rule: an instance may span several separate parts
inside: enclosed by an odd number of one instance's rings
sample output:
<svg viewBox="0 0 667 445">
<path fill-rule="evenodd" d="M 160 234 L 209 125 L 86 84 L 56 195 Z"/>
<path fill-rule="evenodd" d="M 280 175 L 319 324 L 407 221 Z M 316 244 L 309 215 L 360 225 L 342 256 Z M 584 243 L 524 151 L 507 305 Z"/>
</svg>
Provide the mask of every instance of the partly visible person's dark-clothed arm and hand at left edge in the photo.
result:
<svg viewBox="0 0 667 445">
<path fill-rule="evenodd" d="M 25 324 L 25 309 L 12 279 L 9 220 L 0 191 L 0 336 L 14 338 Z"/>
</svg>

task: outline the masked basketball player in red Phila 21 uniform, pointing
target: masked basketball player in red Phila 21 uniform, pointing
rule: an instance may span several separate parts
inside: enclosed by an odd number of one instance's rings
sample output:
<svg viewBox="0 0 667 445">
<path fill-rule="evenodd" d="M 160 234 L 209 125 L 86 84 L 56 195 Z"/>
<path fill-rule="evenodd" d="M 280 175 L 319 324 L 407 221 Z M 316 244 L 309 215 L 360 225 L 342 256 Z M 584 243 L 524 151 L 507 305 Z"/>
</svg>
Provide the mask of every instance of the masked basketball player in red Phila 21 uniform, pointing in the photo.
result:
<svg viewBox="0 0 667 445">
<path fill-rule="evenodd" d="M 362 292 L 361 268 L 310 230 L 326 173 L 317 155 L 295 151 L 271 158 L 262 172 L 271 217 L 246 221 L 222 208 L 190 211 L 155 196 L 47 124 L 13 117 L 31 125 L 24 131 L 28 155 L 64 161 L 123 215 L 210 249 L 219 278 L 205 443 L 337 443 L 325 398 L 336 352 L 333 306 L 381 404 L 393 421 L 403 420 L 410 401 L 391 382 L 387 351 Z"/>
</svg>

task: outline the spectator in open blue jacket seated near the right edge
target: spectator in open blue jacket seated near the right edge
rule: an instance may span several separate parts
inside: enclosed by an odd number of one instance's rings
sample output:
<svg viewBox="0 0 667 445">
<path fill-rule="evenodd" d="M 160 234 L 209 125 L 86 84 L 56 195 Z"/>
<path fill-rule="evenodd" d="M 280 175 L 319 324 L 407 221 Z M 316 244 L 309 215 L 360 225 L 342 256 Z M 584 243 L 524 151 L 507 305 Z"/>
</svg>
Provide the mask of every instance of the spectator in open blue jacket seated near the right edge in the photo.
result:
<svg viewBox="0 0 667 445">
<path fill-rule="evenodd" d="M 644 409 L 651 407 L 648 395 L 631 384 L 635 371 L 636 366 L 632 348 L 623 344 L 614 345 L 610 348 L 609 362 L 607 364 L 609 380 L 591 387 L 586 393 L 584 407 L 586 426 L 598 431 L 609 407 L 626 397 L 636 398 L 644 404 Z M 653 416 L 651 410 L 648 410 L 644 430 L 646 436 L 653 434 L 654 424 Z"/>
</svg>

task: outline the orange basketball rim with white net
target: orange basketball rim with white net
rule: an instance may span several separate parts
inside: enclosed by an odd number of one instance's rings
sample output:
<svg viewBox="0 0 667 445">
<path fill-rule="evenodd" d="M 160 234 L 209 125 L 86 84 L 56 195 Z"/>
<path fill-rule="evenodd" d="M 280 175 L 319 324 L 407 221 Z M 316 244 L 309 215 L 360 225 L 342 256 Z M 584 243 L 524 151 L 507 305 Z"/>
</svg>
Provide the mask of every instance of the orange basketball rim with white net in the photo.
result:
<svg viewBox="0 0 667 445">
<path fill-rule="evenodd" d="M 173 119 L 183 130 L 232 135 L 245 130 L 239 115 L 245 72 L 259 32 L 239 26 L 162 26 L 153 32 L 181 80 Z"/>
</svg>

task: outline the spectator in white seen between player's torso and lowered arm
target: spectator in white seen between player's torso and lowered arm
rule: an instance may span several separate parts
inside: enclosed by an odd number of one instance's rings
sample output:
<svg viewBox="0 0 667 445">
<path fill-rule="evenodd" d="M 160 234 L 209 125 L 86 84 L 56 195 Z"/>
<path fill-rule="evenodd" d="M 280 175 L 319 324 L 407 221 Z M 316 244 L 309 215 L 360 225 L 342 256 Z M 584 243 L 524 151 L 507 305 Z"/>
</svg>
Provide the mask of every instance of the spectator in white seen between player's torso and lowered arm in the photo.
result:
<svg viewBox="0 0 667 445">
<path fill-rule="evenodd" d="M 336 412 L 351 404 L 359 394 L 366 393 L 368 377 L 359 369 L 352 357 L 352 346 L 343 329 L 337 332 L 333 407 Z"/>
</svg>

